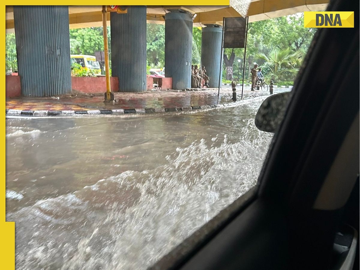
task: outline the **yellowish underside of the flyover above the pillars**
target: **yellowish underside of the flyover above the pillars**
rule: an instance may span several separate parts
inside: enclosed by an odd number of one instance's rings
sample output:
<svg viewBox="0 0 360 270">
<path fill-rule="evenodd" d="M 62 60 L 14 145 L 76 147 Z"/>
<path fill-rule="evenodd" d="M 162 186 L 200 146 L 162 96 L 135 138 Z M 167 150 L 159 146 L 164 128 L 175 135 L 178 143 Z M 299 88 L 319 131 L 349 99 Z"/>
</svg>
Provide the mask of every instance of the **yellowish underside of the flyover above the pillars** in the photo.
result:
<svg viewBox="0 0 360 270">
<path fill-rule="evenodd" d="M 328 0 L 251 0 L 248 13 L 249 22 L 261 21 L 304 11 L 325 10 Z M 231 6 L 147 6 L 147 22 L 164 24 L 164 15 L 169 9 L 183 9 L 192 14 L 194 26 L 204 24 L 222 25 L 224 17 L 241 17 Z M 102 26 L 102 6 L 69 6 L 70 28 Z M 14 32 L 14 13 L 12 6 L 6 6 L 6 32 Z M 110 14 L 107 13 L 108 25 Z"/>
</svg>

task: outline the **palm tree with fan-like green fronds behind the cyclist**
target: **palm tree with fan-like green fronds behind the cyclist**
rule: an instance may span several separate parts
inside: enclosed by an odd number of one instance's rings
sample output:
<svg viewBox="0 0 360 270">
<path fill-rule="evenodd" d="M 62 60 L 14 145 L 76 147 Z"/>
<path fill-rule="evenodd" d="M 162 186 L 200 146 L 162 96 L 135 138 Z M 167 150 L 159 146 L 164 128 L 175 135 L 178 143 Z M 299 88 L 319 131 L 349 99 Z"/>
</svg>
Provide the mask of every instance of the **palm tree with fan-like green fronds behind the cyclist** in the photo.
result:
<svg viewBox="0 0 360 270">
<path fill-rule="evenodd" d="M 270 70 L 270 74 L 267 75 L 274 81 L 282 79 L 289 73 L 294 77 L 302 63 L 301 51 L 294 52 L 291 49 L 274 48 L 267 54 L 258 53 L 256 57 L 265 61 L 262 66 Z"/>
</svg>

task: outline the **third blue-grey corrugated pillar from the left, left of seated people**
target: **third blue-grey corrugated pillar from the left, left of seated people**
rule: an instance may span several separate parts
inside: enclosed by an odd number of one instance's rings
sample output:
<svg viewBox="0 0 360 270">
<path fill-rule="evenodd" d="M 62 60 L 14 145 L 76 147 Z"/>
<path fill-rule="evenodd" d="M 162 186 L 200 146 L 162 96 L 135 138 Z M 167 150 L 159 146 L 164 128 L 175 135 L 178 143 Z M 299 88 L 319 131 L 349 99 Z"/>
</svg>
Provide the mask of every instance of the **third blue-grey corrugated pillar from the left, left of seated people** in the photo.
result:
<svg viewBox="0 0 360 270">
<path fill-rule="evenodd" d="M 165 77 L 172 77 L 172 88 L 191 87 L 193 48 L 192 15 L 172 11 L 165 15 Z"/>
</svg>

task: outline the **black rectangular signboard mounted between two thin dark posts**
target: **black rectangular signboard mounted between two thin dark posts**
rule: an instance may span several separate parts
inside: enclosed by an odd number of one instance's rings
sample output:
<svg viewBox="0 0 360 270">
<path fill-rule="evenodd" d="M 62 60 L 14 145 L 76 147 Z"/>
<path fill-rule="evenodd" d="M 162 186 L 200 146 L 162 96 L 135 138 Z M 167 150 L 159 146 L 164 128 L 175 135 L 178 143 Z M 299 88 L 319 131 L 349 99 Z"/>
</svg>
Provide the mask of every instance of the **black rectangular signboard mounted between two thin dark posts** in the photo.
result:
<svg viewBox="0 0 360 270">
<path fill-rule="evenodd" d="M 246 18 L 224 18 L 223 48 L 245 48 Z"/>
</svg>

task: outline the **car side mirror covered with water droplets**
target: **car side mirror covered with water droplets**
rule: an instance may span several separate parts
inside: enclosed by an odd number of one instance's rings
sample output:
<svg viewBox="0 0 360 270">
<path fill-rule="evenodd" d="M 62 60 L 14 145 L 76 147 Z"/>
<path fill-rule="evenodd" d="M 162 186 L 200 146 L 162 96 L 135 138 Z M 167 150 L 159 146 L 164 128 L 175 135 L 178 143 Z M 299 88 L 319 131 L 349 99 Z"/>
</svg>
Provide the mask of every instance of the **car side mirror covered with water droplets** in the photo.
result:
<svg viewBox="0 0 360 270">
<path fill-rule="evenodd" d="M 261 131 L 274 133 L 284 118 L 290 96 L 291 92 L 285 92 L 265 99 L 255 116 L 256 127 Z"/>
</svg>

